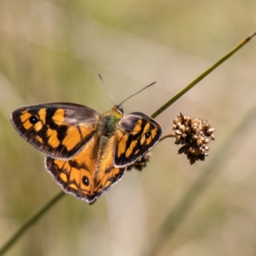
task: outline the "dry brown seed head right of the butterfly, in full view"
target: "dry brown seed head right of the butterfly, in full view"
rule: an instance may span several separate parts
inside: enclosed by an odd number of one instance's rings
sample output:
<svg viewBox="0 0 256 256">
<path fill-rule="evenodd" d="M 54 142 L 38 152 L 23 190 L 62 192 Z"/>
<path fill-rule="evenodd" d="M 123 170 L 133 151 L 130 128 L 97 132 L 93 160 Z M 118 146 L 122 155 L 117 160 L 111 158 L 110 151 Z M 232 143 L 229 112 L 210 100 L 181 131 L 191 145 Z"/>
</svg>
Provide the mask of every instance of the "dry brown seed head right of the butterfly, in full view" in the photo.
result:
<svg viewBox="0 0 256 256">
<path fill-rule="evenodd" d="M 178 154 L 186 154 L 191 164 L 195 161 L 204 161 L 209 155 L 209 143 L 214 140 L 212 134 L 215 129 L 207 121 L 198 118 L 190 118 L 179 113 L 173 120 L 175 132 L 175 144 L 181 144 Z"/>
</svg>

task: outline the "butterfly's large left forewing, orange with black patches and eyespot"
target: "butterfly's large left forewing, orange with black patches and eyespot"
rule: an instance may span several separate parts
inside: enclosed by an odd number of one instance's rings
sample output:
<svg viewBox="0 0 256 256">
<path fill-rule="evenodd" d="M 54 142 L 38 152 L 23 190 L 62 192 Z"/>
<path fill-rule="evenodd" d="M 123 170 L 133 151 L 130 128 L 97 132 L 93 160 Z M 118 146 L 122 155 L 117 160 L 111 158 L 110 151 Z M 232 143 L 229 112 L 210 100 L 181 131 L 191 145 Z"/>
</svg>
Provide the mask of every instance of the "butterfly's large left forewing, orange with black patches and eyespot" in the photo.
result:
<svg viewBox="0 0 256 256">
<path fill-rule="evenodd" d="M 15 109 L 11 121 L 20 136 L 50 157 L 69 159 L 96 132 L 100 114 L 86 106 L 50 103 Z"/>
</svg>

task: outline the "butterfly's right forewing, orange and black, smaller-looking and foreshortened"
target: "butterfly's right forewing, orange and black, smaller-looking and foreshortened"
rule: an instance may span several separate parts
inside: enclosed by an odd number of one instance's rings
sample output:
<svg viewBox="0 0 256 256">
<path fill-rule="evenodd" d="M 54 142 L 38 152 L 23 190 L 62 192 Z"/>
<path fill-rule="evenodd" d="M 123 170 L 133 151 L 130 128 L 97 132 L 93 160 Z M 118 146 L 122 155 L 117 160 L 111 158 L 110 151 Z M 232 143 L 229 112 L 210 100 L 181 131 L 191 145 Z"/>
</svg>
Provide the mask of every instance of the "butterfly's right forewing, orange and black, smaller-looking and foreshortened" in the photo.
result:
<svg viewBox="0 0 256 256">
<path fill-rule="evenodd" d="M 115 135 L 114 166 L 122 168 L 134 163 L 154 147 L 161 134 L 161 126 L 144 113 L 123 116 Z"/>
</svg>

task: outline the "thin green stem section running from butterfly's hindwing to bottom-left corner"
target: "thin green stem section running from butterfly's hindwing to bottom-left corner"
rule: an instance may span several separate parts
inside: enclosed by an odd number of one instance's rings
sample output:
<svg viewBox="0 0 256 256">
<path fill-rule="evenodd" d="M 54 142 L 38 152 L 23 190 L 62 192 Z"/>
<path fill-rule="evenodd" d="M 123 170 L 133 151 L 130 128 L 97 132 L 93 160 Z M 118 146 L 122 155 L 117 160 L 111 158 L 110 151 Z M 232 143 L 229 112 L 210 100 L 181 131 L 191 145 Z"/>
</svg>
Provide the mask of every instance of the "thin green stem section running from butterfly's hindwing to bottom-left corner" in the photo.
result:
<svg viewBox="0 0 256 256">
<path fill-rule="evenodd" d="M 28 218 L 28 220 L 23 223 L 23 225 L 13 234 L 13 236 L 4 244 L 4 246 L 0 249 L 0 255 L 4 255 L 12 247 L 12 245 L 28 230 L 31 225 L 33 225 L 41 216 L 45 214 L 54 204 L 56 204 L 60 198 L 66 195 L 63 191 L 58 193 L 56 196 L 52 197 L 49 202 L 43 205 L 40 209 L 38 209 L 32 216 Z"/>
</svg>

